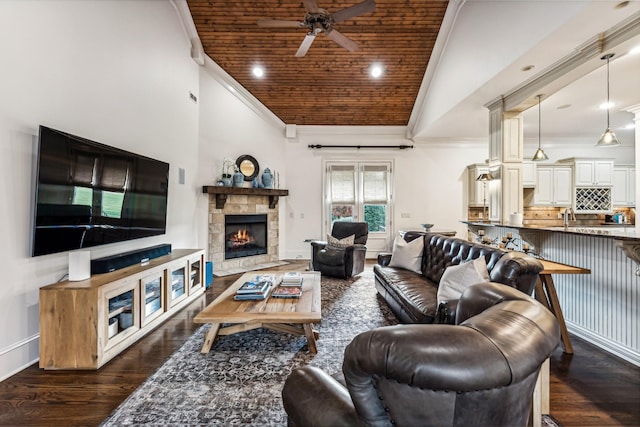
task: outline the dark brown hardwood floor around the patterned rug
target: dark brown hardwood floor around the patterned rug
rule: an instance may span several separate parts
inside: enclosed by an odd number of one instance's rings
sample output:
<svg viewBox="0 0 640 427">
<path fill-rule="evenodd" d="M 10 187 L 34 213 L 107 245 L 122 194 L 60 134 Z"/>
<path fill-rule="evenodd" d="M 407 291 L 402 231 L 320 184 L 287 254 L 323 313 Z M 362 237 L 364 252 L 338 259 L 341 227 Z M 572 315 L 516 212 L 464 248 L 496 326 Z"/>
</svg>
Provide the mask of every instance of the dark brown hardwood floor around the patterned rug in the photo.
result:
<svg viewBox="0 0 640 427">
<path fill-rule="evenodd" d="M 202 298 L 98 371 L 35 364 L 1 382 L 0 425 L 98 425 L 200 326 L 193 317 L 237 277 L 216 277 Z M 573 356 L 556 350 L 551 358 L 551 415 L 565 427 L 640 426 L 640 368 L 579 338 L 572 342 Z"/>
</svg>

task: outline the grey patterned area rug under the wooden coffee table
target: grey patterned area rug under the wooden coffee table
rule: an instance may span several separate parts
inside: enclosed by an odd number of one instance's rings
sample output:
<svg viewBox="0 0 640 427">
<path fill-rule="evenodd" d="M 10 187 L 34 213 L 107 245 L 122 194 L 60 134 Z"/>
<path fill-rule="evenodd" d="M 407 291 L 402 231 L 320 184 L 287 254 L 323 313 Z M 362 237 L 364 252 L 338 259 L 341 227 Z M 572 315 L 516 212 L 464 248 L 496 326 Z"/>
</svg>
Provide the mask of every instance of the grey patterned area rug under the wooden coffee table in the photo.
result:
<svg viewBox="0 0 640 427">
<path fill-rule="evenodd" d="M 373 272 L 357 278 L 322 278 L 318 354 L 304 337 L 255 329 L 219 337 L 211 352 L 200 348 L 209 325 L 200 327 L 102 426 L 286 426 L 280 393 L 297 367 L 342 367 L 344 348 L 360 332 L 398 323 L 377 296 Z M 551 417 L 542 425 L 557 427 Z"/>
</svg>

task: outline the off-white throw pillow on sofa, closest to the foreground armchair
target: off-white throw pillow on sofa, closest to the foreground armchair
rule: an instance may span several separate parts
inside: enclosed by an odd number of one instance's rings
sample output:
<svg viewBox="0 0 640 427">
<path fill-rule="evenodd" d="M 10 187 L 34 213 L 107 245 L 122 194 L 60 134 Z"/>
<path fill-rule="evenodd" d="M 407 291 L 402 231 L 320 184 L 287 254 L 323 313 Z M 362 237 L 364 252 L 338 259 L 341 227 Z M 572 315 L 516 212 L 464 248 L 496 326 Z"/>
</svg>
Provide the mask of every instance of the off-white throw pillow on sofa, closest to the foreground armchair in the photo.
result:
<svg viewBox="0 0 640 427">
<path fill-rule="evenodd" d="M 460 299 L 460 295 L 469 286 L 488 281 L 489 272 L 484 257 L 460 265 L 450 265 L 444 270 L 438 285 L 438 303 Z"/>
</svg>

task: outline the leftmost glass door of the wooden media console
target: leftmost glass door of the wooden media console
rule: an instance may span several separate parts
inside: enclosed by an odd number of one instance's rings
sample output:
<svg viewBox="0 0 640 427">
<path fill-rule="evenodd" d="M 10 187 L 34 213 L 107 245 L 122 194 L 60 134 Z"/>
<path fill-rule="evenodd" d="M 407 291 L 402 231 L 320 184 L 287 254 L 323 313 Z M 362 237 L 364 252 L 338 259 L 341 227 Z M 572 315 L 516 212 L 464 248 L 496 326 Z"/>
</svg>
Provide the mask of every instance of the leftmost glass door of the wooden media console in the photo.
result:
<svg viewBox="0 0 640 427">
<path fill-rule="evenodd" d="M 105 293 L 107 300 L 107 343 L 119 342 L 140 329 L 138 293 L 135 283 Z"/>
</svg>

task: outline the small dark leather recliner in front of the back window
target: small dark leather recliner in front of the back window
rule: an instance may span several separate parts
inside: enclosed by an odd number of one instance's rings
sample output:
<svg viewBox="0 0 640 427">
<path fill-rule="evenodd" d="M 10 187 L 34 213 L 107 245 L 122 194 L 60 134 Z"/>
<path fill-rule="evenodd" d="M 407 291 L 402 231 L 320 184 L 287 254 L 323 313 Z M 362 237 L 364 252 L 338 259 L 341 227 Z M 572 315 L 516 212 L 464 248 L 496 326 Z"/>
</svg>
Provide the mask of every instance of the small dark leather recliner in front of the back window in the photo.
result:
<svg viewBox="0 0 640 427">
<path fill-rule="evenodd" d="M 347 278 L 356 276 L 364 271 L 364 261 L 367 252 L 367 238 L 369 226 L 366 222 L 336 221 L 331 229 L 331 236 L 344 239 L 355 235 L 353 246 L 344 249 L 334 249 L 327 246 L 326 241 L 311 242 L 311 262 L 313 269 L 323 276 Z"/>
</svg>

